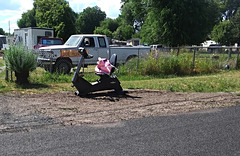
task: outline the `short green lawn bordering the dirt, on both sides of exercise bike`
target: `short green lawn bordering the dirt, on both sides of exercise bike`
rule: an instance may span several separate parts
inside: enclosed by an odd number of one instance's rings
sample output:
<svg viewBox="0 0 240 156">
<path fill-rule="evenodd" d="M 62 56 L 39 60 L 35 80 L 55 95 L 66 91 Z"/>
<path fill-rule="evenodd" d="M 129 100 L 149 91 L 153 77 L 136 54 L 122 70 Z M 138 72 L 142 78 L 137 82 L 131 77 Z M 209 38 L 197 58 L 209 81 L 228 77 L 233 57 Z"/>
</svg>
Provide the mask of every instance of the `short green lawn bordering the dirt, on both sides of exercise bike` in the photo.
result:
<svg viewBox="0 0 240 156">
<path fill-rule="evenodd" d="M 89 71 L 89 69 L 86 69 L 86 72 L 87 71 Z M 6 82 L 4 80 L 5 72 L 3 72 L 0 74 L 0 92 L 21 92 L 31 94 L 76 90 L 71 87 L 72 75 L 52 76 L 47 74 L 47 76 L 44 77 L 53 80 L 45 82 L 45 80 L 42 79 L 44 72 L 42 69 L 38 69 L 31 73 L 31 77 L 34 77 L 31 78 L 32 84 L 25 86 L 18 86 L 14 82 Z M 93 73 L 86 73 L 85 77 L 92 80 L 98 78 Z M 134 80 L 126 80 L 119 75 L 119 79 L 124 89 L 154 89 L 176 92 L 240 92 L 240 71 L 237 70 L 222 71 L 220 73 L 202 76 L 172 78 L 145 77 L 144 80 L 137 80 L 138 77 L 135 79 L 133 78 Z M 139 77 L 139 79 L 142 79 L 142 77 Z"/>
</svg>

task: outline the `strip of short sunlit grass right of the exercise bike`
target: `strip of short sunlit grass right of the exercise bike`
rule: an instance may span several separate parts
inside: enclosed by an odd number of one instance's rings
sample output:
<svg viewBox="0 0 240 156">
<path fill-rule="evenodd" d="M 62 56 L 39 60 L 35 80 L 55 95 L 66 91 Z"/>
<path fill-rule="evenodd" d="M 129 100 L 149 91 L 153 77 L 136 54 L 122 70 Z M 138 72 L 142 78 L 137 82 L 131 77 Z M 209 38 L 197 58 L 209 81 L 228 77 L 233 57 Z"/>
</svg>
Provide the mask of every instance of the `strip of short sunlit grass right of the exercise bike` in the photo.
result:
<svg viewBox="0 0 240 156">
<path fill-rule="evenodd" d="M 240 71 L 222 71 L 202 76 L 122 82 L 123 88 L 156 89 L 176 92 L 239 92 Z"/>
</svg>

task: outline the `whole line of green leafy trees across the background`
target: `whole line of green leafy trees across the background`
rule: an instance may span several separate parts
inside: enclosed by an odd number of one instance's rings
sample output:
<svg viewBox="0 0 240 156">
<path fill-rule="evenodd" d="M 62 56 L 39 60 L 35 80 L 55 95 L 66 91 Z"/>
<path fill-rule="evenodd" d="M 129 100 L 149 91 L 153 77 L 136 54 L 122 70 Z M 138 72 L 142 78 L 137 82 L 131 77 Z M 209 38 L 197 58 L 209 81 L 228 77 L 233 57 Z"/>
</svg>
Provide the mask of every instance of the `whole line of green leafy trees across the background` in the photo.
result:
<svg viewBox="0 0 240 156">
<path fill-rule="evenodd" d="M 66 0 L 34 0 L 19 28 L 54 28 L 65 41 L 72 34 L 105 34 L 117 40 L 141 38 L 147 44 L 199 45 L 212 39 L 239 43 L 239 0 L 121 0 L 121 14 L 106 17 L 98 6 L 76 13 Z"/>
</svg>

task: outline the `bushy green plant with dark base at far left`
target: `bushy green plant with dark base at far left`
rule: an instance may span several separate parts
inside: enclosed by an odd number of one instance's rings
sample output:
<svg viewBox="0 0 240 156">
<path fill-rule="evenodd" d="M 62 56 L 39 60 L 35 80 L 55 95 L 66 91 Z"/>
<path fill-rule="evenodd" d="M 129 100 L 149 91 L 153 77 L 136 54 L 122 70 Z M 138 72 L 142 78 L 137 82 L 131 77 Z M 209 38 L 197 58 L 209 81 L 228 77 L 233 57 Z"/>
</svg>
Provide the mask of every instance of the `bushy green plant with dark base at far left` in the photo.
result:
<svg viewBox="0 0 240 156">
<path fill-rule="evenodd" d="M 29 83 L 29 72 L 36 69 L 36 56 L 24 46 L 12 45 L 5 51 L 5 61 L 8 70 L 15 72 L 16 83 Z"/>
</svg>

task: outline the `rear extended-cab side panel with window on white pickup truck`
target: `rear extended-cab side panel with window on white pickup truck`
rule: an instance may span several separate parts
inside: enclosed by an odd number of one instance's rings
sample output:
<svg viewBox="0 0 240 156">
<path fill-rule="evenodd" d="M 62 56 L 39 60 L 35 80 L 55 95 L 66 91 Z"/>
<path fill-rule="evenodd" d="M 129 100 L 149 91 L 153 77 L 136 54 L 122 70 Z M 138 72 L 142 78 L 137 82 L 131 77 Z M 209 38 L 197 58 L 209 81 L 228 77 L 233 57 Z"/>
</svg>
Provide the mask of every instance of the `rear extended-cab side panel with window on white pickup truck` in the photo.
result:
<svg viewBox="0 0 240 156">
<path fill-rule="evenodd" d="M 98 57 L 109 59 L 109 48 L 104 37 L 97 37 L 98 39 Z"/>
</svg>

